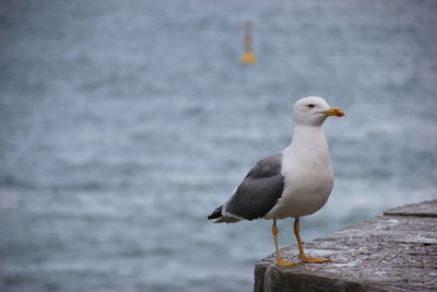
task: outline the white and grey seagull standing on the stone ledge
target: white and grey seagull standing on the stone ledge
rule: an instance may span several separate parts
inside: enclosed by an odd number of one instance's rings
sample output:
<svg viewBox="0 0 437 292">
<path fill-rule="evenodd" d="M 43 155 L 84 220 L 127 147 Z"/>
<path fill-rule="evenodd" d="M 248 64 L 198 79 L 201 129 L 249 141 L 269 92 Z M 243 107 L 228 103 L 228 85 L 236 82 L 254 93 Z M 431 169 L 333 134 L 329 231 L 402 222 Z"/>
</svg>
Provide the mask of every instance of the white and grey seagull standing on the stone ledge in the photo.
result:
<svg viewBox="0 0 437 292">
<path fill-rule="evenodd" d="M 328 141 L 322 124 L 329 116 L 342 117 L 343 109 L 329 106 L 318 96 L 298 100 L 293 107 L 293 141 L 280 153 L 257 162 L 231 198 L 209 217 L 214 223 L 272 219 L 275 265 L 299 262 L 281 257 L 276 220 L 294 218 L 294 234 L 302 262 L 327 262 L 309 257 L 300 240 L 299 218 L 312 214 L 327 202 L 334 183 Z"/>
</svg>

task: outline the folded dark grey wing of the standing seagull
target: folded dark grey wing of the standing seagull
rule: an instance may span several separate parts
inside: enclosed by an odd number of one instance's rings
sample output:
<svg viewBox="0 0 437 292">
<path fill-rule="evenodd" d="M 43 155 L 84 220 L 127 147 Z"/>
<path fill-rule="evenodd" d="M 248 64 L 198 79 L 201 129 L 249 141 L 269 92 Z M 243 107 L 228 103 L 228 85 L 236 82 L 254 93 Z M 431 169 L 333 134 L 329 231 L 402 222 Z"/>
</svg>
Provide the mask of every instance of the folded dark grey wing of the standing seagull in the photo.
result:
<svg viewBox="0 0 437 292">
<path fill-rule="evenodd" d="M 246 220 L 264 217 L 284 189 L 281 161 L 282 153 L 260 160 L 226 202 L 226 212 Z"/>
</svg>

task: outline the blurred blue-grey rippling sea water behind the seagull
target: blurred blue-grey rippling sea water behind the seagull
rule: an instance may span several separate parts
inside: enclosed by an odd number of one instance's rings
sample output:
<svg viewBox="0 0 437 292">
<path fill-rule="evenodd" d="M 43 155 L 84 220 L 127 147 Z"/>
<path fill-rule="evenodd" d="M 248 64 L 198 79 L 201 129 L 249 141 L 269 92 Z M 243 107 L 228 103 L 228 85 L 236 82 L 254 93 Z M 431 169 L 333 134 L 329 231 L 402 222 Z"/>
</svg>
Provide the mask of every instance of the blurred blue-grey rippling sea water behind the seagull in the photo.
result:
<svg viewBox="0 0 437 292">
<path fill-rule="evenodd" d="M 346 116 L 305 241 L 436 198 L 436 32 L 432 0 L 2 1 L 0 290 L 250 291 L 271 222 L 206 215 L 308 95 Z"/>
</svg>

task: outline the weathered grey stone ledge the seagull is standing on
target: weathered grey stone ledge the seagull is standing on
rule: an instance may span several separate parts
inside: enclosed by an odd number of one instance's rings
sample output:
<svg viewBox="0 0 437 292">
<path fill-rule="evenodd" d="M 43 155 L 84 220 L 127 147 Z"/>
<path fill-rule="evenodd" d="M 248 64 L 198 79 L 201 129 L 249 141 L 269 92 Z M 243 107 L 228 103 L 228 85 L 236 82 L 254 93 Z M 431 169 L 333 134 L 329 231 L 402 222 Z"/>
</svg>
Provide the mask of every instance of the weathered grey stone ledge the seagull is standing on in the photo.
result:
<svg viewBox="0 0 437 292">
<path fill-rule="evenodd" d="M 437 200 L 409 205 L 305 244 L 328 264 L 256 265 L 256 292 L 437 291 Z M 297 259 L 297 247 L 281 249 Z"/>
</svg>

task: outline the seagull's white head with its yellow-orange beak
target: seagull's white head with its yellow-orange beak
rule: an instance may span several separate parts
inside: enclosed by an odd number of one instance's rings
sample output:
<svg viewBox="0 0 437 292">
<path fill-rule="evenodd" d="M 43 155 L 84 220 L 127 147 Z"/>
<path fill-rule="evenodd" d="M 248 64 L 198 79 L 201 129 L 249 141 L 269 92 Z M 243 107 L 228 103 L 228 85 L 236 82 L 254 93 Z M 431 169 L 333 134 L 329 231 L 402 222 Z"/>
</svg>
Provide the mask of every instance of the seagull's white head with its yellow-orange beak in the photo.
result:
<svg viewBox="0 0 437 292">
<path fill-rule="evenodd" d="M 317 96 L 298 100 L 293 107 L 293 121 L 297 125 L 321 126 L 328 116 L 344 116 L 343 109 L 329 106 Z"/>
</svg>

